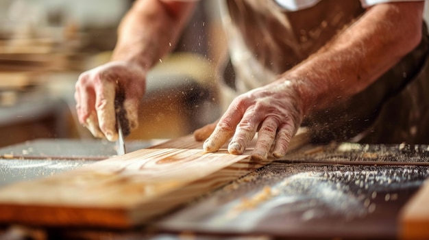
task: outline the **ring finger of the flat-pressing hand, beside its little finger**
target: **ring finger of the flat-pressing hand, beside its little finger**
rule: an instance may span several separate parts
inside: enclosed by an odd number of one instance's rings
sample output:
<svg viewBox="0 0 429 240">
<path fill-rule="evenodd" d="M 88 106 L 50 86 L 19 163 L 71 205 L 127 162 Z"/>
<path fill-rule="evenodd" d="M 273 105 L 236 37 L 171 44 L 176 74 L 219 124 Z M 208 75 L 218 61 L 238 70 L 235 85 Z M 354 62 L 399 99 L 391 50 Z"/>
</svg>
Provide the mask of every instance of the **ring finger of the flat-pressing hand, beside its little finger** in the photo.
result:
<svg viewBox="0 0 429 240">
<path fill-rule="evenodd" d="M 263 161 L 267 159 L 268 153 L 273 145 L 278 128 L 278 121 L 273 117 L 265 118 L 258 131 L 258 140 L 252 152 L 252 158 Z"/>
</svg>

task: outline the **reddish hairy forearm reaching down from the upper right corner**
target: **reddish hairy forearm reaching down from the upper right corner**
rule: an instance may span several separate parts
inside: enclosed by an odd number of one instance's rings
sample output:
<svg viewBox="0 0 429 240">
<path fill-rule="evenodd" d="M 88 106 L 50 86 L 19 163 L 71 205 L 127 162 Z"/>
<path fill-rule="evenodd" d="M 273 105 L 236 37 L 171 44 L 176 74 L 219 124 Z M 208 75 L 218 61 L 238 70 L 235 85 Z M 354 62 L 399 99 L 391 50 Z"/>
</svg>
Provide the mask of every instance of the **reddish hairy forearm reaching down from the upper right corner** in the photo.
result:
<svg viewBox="0 0 429 240">
<path fill-rule="evenodd" d="M 332 42 L 285 72 L 299 82 L 304 113 L 364 90 L 421 39 L 424 2 L 376 5 Z M 304 83 L 304 84 L 301 84 Z"/>
</svg>

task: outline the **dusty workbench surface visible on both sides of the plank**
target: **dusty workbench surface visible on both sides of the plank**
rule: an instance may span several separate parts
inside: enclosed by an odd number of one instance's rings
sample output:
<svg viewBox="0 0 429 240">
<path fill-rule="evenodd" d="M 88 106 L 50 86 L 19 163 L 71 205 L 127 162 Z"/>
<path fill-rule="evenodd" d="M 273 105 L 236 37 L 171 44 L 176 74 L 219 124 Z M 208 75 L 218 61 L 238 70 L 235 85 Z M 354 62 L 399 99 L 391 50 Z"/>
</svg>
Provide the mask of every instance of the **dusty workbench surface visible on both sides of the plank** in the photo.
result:
<svg viewBox="0 0 429 240">
<path fill-rule="evenodd" d="M 128 143 L 127 148 L 150 145 L 134 142 Z M 78 146 L 82 151 L 79 155 L 71 154 L 75 151 L 63 151 L 73 149 L 71 146 Z M 38 173 L 49 175 L 79 168 L 112 157 L 115 152 L 112 144 L 106 142 L 44 139 L 2 148 L 0 155 L 3 155 L 1 169 L 6 170 L 2 176 L 8 178 L 2 182 L 5 185 L 22 180 L 14 170 L 33 172 L 31 176 L 21 175 L 23 178 L 43 177 Z M 66 228 L 41 231 L 52 239 L 59 236 L 70 239 L 77 236 L 84 239 L 107 236 L 110 239 L 395 239 L 400 234 L 398 218 L 402 207 L 429 176 L 428 162 L 428 146 L 422 145 L 310 146 L 210 191 L 144 226 L 125 231 Z M 8 171 L 11 171 L 9 175 Z M 21 227 L 5 229 L 4 236 L 25 232 Z"/>
</svg>

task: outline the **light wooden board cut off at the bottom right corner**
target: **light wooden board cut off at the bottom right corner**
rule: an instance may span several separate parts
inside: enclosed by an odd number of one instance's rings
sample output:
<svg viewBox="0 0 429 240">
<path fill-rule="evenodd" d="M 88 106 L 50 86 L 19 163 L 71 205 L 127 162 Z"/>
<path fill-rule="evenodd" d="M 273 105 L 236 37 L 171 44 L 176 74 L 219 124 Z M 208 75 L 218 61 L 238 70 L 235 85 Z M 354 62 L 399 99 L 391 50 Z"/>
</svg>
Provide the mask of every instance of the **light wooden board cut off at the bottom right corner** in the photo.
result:
<svg viewBox="0 0 429 240">
<path fill-rule="evenodd" d="M 401 239 L 429 239 L 429 180 L 411 198 L 400 215 Z"/>
</svg>

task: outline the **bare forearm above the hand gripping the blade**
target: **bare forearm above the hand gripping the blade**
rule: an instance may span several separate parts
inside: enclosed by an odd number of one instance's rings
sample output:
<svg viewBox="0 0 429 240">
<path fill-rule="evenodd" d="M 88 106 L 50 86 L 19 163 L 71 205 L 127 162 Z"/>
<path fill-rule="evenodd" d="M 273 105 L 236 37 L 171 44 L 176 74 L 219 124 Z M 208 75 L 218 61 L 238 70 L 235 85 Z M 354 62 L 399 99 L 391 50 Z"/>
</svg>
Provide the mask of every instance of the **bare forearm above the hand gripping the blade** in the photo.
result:
<svg viewBox="0 0 429 240">
<path fill-rule="evenodd" d="M 112 60 L 151 68 L 173 49 L 194 6 L 193 2 L 136 1 L 119 25 Z"/>
</svg>

